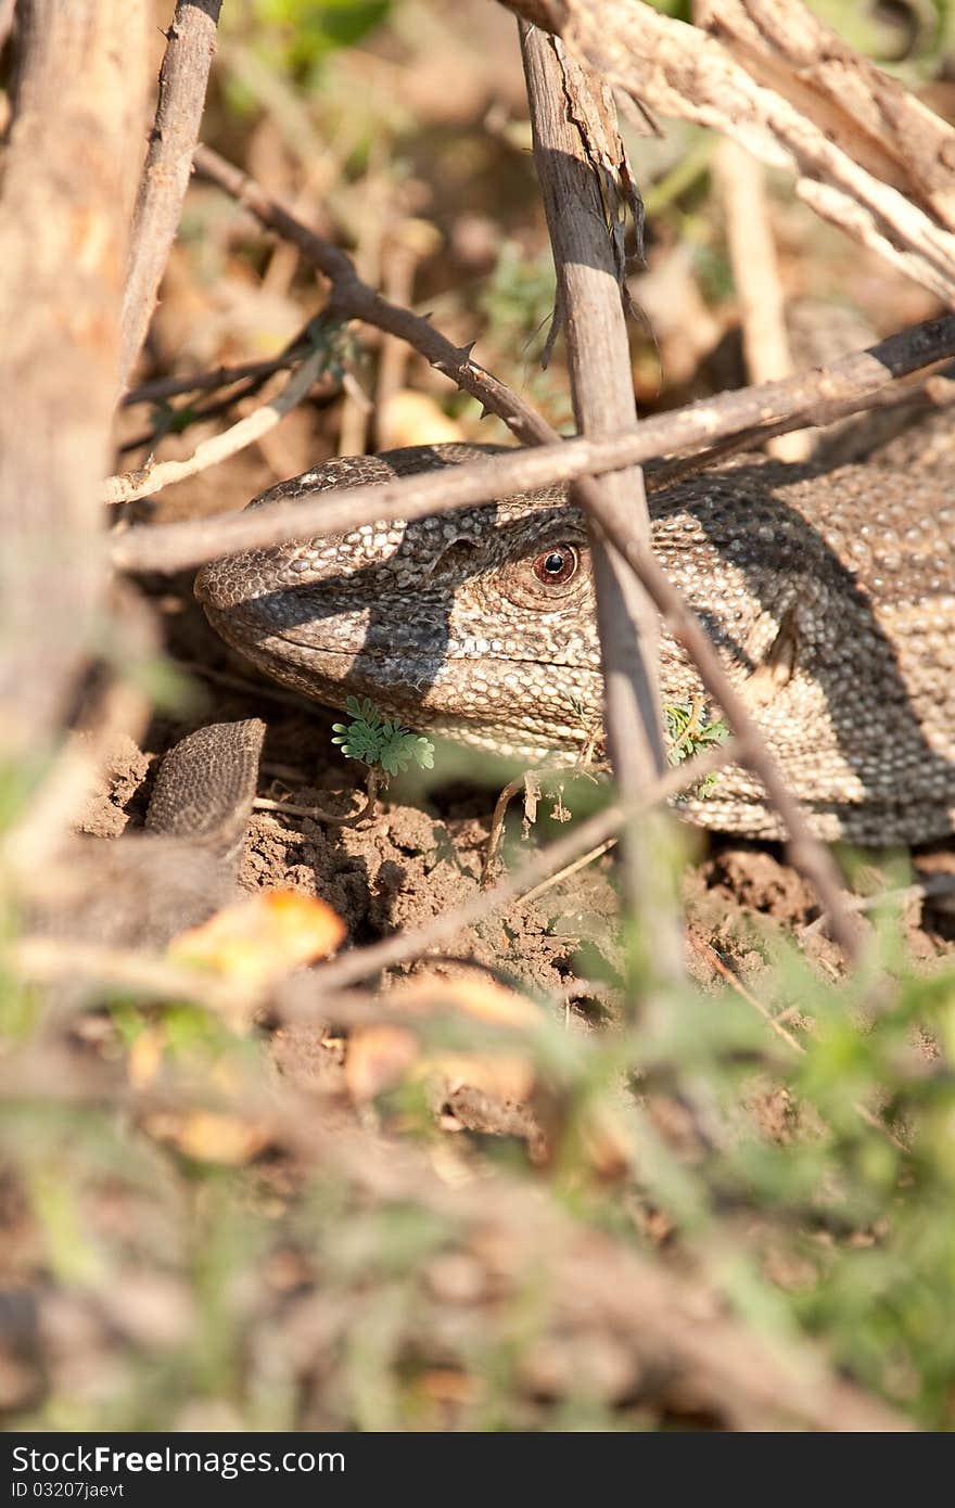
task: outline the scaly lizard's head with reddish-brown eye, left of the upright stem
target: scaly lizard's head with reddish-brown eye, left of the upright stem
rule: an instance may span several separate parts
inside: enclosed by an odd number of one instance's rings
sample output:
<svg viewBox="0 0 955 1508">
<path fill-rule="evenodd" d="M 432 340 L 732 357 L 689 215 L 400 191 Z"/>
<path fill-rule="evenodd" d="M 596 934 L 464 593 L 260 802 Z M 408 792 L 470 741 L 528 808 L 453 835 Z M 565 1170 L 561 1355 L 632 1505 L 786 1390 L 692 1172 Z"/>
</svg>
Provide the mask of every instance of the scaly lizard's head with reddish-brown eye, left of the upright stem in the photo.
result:
<svg viewBox="0 0 955 1508">
<path fill-rule="evenodd" d="M 410 454 L 329 461 L 255 502 L 388 480 L 419 469 Z M 590 552 L 561 489 L 214 561 L 196 596 L 226 642 L 329 706 L 370 697 L 415 731 L 534 760 L 599 733 Z"/>
</svg>

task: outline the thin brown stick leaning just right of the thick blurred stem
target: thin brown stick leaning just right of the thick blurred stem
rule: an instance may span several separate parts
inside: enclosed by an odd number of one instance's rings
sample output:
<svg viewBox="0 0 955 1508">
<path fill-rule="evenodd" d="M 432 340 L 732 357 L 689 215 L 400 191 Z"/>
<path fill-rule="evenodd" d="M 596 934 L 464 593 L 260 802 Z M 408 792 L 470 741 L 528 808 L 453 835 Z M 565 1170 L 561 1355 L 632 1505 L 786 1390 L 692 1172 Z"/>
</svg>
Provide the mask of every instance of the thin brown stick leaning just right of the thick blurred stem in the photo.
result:
<svg viewBox="0 0 955 1508">
<path fill-rule="evenodd" d="M 122 299 L 121 383 L 146 338 L 199 139 L 222 0 L 178 0 L 160 72 L 155 125 L 139 184 Z"/>
</svg>

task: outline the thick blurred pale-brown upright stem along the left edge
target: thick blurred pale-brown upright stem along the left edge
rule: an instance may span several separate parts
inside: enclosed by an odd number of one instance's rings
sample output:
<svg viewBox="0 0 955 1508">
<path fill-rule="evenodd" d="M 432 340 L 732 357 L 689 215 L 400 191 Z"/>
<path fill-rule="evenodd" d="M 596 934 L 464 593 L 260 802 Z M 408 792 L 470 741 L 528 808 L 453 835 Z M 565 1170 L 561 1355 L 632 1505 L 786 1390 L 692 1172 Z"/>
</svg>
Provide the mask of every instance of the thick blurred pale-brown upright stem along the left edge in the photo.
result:
<svg viewBox="0 0 955 1508">
<path fill-rule="evenodd" d="M 100 493 L 116 398 L 145 8 L 20 0 L 0 199 L 0 751 L 42 754 L 106 579 Z"/>
</svg>

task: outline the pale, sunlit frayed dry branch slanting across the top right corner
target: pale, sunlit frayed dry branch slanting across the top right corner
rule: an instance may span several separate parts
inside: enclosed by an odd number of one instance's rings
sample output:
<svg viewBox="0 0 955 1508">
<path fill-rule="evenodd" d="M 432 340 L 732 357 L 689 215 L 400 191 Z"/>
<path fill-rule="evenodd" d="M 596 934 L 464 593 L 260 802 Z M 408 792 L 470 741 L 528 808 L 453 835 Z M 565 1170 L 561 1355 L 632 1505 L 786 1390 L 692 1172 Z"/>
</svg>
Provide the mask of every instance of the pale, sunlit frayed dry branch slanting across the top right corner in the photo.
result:
<svg viewBox="0 0 955 1508">
<path fill-rule="evenodd" d="M 941 223 L 857 161 L 852 151 L 872 158 L 857 137 L 849 140 L 843 133 L 842 145 L 831 139 L 831 104 L 818 92 L 806 89 L 798 104 L 792 103 L 747 71 L 748 54 L 744 66 L 717 36 L 638 0 L 501 3 L 558 33 L 581 62 L 640 106 L 721 131 L 768 166 L 794 172 L 797 195 L 822 219 L 878 252 L 946 305 L 955 305 L 955 235 L 947 222 Z M 726 14 L 736 9 L 736 0 L 727 0 Z M 762 15 L 763 0 L 753 0 L 750 9 Z M 788 21 L 801 20 L 803 11 L 797 0 L 789 0 Z M 712 0 L 706 15 L 715 26 L 724 15 L 724 0 Z M 867 71 L 878 71 L 863 65 L 845 42 L 839 42 L 839 50 L 842 68 L 861 78 L 858 87 L 866 87 Z M 792 75 L 791 66 L 782 71 L 786 78 Z M 772 78 L 777 83 L 775 72 Z M 884 104 L 889 93 L 883 92 Z M 911 130 L 904 127 L 902 137 L 914 152 Z M 947 169 L 946 152 L 947 143 L 935 158 L 938 173 Z M 944 188 L 935 185 L 934 192 L 944 199 Z"/>
</svg>

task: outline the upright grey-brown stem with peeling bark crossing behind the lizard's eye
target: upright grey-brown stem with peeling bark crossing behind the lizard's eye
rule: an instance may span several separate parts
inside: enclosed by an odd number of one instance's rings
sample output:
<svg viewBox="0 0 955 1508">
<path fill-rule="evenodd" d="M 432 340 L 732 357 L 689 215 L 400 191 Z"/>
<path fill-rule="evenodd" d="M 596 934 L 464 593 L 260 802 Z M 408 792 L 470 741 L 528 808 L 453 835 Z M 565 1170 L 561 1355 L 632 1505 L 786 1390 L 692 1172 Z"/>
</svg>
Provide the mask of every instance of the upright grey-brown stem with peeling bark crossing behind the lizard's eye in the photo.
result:
<svg viewBox="0 0 955 1508">
<path fill-rule="evenodd" d="M 622 300 L 620 202 L 629 198 L 637 213 L 641 205 L 638 196 L 632 198 L 632 176 L 610 90 L 567 59 L 557 38 L 527 23 L 519 23 L 519 29 L 573 412 L 582 434 L 613 434 L 637 424 Z M 622 175 L 619 164 L 623 164 Z M 625 192 L 619 187 L 620 176 Z M 591 478 L 572 492 L 584 507 L 591 544 L 606 748 L 620 795 L 629 801 L 649 790 L 665 765 L 656 670 L 659 620 L 599 519 L 600 513 L 613 514 L 634 543 L 649 552 L 650 516 L 643 472 L 631 466 L 600 481 Z M 599 499 L 599 510 L 593 507 L 594 499 Z M 625 828 L 622 851 L 629 914 L 640 920 L 655 944 L 647 983 L 653 976 L 679 979 L 683 944 L 676 897 L 668 894 L 659 863 L 662 849 L 646 823 L 631 823 Z"/>
</svg>

